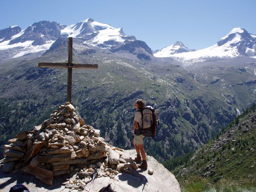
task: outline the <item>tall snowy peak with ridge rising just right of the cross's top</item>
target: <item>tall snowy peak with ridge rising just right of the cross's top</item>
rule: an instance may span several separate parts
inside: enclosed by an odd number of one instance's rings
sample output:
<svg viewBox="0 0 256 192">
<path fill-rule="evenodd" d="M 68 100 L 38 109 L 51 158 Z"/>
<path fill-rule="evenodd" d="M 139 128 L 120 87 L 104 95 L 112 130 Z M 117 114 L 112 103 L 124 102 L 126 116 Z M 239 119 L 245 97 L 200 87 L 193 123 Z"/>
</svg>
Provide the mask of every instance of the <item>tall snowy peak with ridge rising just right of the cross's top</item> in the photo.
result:
<svg viewBox="0 0 256 192">
<path fill-rule="evenodd" d="M 139 59 L 149 60 L 152 50 L 148 45 L 134 36 L 125 35 L 122 28 L 114 28 L 109 24 L 86 19 L 61 30 L 61 36 L 76 37 L 83 44 L 108 49 L 113 53 L 129 52 Z"/>
</svg>

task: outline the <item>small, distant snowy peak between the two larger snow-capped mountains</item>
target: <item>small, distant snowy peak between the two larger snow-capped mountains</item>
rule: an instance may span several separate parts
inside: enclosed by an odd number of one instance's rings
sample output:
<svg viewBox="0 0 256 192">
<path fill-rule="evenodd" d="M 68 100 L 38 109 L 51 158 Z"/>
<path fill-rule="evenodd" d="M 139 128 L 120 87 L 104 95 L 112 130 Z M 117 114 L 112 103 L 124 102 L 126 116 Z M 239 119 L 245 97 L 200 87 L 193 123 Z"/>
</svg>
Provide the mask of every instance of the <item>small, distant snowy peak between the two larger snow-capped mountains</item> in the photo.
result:
<svg viewBox="0 0 256 192">
<path fill-rule="evenodd" d="M 164 47 L 163 49 L 160 49 L 157 51 L 154 56 L 155 57 L 169 57 L 170 55 L 173 55 L 175 53 L 183 53 L 183 52 L 189 52 L 189 51 L 195 51 L 194 49 L 188 49 L 181 41 L 177 41 L 173 45 Z"/>
</svg>

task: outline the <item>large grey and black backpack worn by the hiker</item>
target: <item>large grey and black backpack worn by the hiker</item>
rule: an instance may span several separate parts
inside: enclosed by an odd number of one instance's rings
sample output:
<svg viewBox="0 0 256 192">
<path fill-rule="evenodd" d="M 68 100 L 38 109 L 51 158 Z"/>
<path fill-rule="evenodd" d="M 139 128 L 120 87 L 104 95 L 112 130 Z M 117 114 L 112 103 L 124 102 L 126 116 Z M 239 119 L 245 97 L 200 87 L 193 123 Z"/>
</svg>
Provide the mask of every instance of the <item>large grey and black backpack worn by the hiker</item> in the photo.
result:
<svg viewBox="0 0 256 192">
<path fill-rule="evenodd" d="M 136 135 L 144 135 L 146 137 L 154 138 L 156 135 L 157 123 L 159 125 L 159 120 L 157 118 L 157 111 L 152 106 L 145 106 L 142 110 L 138 110 L 141 112 L 142 117 L 142 127 L 139 126 L 139 129 L 135 130 Z"/>
</svg>

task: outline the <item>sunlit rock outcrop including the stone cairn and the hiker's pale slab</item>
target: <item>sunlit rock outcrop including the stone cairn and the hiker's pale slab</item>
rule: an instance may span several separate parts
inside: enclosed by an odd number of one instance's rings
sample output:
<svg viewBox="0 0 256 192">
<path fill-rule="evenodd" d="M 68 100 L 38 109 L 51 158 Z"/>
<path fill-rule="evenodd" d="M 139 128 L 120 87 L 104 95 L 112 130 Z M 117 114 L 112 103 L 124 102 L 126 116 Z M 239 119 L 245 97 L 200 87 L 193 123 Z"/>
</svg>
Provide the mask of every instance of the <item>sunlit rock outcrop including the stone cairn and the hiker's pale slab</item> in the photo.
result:
<svg viewBox="0 0 256 192">
<path fill-rule="evenodd" d="M 104 142 L 100 130 L 86 125 L 69 102 L 54 110 L 33 131 L 21 132 L 9 143 L 1 161 L 3 172 L 29 173 L 47 185 L 56 185 L 53 178 L 66 176 L 62 183 L 65 191 L 89 189 L 94 171 L 98 178 L 93 191 L 108 184 L 115 191 L 180 191 L 174 175 L 163 165 L 147 156 L 148 170 L 138 169 L 132 159 L 135 150 L 124 151 Z M 166 185 L 161 184 L 162 178 Z M 3 180 L 0 185 L 6 185 Z M 2 188 L 9 191 L 8 187 Z M 34 187 L 30 190 L 37 191 Z"/>
</svg>

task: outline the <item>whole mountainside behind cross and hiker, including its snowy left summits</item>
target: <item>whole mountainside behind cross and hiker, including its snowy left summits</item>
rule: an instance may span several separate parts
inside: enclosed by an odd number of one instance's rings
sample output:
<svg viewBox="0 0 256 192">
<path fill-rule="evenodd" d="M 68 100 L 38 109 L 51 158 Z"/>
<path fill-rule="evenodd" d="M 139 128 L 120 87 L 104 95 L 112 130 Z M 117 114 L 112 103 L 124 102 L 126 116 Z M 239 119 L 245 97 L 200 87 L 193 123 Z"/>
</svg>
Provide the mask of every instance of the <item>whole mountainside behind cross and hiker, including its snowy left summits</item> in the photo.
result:
<svg viewBox="0 0 256 192">
<path fill-rule="evenodd" d="M 131 118 L 138 98 L 159 110 L 157 138 L 146 139 L 145 147 L 162 161 L 197 149 L 255 102 L 255 59 L 248 56 L 184 67 L 173 58 L 153 57 L 145 42 L 92 19 L 70 26 L 43 21 L 1 34 L 0 46 L 13 46 L 0 50 L 1 146 L 22 130 L 32 131 L 66 101 L 67 70 L 37 64 L 66 62 L 67 36 L 76 37 L 73 62 L 99 65 L 97 71 L 73 70 L 72 104 L 111 145 L 132 147 Z M 23 55 L 45 44 L 47 51 Z"/>
</svg>

